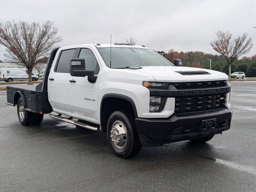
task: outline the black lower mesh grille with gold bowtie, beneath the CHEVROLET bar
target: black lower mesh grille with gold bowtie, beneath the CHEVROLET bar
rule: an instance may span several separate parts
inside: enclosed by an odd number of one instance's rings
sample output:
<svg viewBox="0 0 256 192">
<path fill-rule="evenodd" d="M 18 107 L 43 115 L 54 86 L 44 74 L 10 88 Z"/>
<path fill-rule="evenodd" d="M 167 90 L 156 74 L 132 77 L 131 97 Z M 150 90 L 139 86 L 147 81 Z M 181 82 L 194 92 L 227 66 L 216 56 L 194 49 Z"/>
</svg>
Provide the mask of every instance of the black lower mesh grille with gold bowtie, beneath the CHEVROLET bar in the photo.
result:
<svg viewBox="0 0 256 192">
<path fill-rule="evenodd" d="M 225 108 L 226 94 L 175 98 L 175 114 Z"/>
</svg>

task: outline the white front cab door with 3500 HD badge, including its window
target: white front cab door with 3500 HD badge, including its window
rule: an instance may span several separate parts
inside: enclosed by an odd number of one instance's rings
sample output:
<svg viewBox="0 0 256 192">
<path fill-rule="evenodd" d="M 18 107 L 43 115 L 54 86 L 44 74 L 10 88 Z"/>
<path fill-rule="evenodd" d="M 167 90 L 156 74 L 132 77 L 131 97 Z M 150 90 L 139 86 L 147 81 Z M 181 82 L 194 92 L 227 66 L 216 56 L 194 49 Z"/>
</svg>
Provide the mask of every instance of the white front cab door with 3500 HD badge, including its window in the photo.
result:
<svg viewBox="0 0 256 192">
<path fill-rule="evenodd" d="M 78 52 L 78 58 L 85 59 L 86 70 L 94 70 L 95 76 L 98 76 L 100 67 L 94 50 L 81 48 Z M 72 114 L 91 122 L 98 121 L 98 86 L 99 77 L 95 83 L 90 83 L 88 82 L 88 76 L 76 77 L 69 75 L 68 99 Z"/>
</svg>

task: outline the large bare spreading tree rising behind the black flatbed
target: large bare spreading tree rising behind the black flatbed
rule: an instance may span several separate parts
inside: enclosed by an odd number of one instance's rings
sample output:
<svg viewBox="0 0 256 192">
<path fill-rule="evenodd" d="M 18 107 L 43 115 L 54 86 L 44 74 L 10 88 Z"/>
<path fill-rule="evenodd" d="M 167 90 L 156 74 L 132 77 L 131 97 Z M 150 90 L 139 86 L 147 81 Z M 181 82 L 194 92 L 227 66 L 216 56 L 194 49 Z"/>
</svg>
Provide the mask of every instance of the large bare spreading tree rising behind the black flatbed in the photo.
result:
<svg viewBox="0 0 256 192">
<path fill-rule="evenodd" d="M 0 44 L 5 46 L 4 56 L 27 68 L 28 84 L 32 84 L 32 70 L 46 57 L 54 44 L 62 41 L 58 29 L 51 21 L 28 23 L 24 21 L 0 22 Z"/>
</svg>

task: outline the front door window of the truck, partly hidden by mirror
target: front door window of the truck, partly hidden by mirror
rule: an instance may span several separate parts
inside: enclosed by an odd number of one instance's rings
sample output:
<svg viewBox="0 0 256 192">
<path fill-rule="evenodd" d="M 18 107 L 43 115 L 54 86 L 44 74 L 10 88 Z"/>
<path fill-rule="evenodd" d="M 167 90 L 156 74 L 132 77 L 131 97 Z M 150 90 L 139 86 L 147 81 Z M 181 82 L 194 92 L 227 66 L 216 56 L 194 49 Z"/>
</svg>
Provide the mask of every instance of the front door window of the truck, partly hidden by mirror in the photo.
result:
<svg viewBox="0 0 256 192">
<path fill-rule="evenodd" d="M 79 58 L 84 58 L 85 60 L 85 69 L 94 70 L 95 74 L 98 74 L 100 71 L 99 64 L 90 49 L 81 49 Z"/>
</svg>

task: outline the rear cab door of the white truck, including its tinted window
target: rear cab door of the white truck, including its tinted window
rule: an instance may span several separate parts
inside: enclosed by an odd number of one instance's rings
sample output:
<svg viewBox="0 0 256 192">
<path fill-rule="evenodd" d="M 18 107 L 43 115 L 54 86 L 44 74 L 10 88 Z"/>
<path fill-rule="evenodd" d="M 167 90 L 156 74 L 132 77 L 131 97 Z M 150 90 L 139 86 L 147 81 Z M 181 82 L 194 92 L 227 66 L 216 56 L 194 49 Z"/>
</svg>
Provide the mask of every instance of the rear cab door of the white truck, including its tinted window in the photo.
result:
<svg viewBox="0 0 256 192">
<path fill-rule="evenodd" d="M 48 77 L 48 98 L 55 112 L 70 113 L 68 104 L 68 78 L 70 75 L 70 59 L 74 57 L 75 49 L 60 50 L 54 67 Z"/>
</svg>

